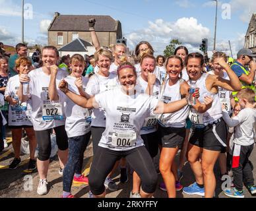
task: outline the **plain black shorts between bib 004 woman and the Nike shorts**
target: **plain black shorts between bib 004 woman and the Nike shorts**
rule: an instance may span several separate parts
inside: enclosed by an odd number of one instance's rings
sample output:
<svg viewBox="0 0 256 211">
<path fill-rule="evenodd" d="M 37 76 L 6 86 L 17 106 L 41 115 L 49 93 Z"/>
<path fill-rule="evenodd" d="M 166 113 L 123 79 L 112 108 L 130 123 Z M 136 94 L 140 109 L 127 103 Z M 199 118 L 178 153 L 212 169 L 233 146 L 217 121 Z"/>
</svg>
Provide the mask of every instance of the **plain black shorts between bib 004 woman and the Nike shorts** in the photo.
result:
<svg viewBox="0 0 256 211">
<path fill-rule="evenodd" d="M 158 140 L 160 139 L 158 132 L 141 135 L 141 138 L 143 138 L 146 150 L 148 150 L 151 158 L 154 158 L 158 154 Z"/>
</svg>

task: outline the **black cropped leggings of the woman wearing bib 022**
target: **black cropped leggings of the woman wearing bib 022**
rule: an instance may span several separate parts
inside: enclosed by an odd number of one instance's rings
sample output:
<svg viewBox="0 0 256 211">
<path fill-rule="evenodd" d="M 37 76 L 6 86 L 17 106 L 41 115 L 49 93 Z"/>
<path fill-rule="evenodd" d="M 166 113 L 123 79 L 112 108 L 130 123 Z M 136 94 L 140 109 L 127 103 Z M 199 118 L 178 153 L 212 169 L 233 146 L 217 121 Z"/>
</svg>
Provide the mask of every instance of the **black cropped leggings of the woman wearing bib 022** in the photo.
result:
<svg viewBox="0 0 256 211">
<path fill-rule="evenodd" d="M 53 128 L 56 134 L 56 142 L 59 150 L 64 151 L 69 148 L 65 125 Z M 38 160 L 46 161 L 51 156 L 51 129 L 45 131 L 35 131 L 38 142 Z"/>
</svg>

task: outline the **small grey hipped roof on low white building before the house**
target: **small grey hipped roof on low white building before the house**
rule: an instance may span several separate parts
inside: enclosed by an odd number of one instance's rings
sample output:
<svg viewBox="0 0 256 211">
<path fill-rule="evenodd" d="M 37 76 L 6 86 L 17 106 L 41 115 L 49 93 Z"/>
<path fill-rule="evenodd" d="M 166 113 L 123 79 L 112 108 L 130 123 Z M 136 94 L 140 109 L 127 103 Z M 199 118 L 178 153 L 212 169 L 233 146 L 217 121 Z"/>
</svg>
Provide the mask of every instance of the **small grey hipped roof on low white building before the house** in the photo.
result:
<svg viewBox="0 0 256 211">
<path fill-rule="evenodd" d="M 84 52 L 88 51 L 86 47 L 92 46 L 89 42 L 86 42 L 80 38 L 77 38 L 67 45 L 64 45 L 59 51 L 71 51 L 71 52 Z"/>
</svg>

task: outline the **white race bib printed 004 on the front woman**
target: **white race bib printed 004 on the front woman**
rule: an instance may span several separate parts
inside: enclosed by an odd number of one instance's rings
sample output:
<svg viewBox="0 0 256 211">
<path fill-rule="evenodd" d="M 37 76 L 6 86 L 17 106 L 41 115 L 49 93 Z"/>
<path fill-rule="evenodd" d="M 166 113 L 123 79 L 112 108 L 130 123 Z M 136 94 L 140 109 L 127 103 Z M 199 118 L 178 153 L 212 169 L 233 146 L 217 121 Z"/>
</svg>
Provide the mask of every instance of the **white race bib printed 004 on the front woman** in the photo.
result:
<svg viewBox="0 0 256 211">
<path fill-rule="evenodd" d="M 125 131 L 125 133 L 115 132 L 112 134 L 112 145 L 115 147 L 129 147 L 135 146 L 137 135 L 134 131 L 130 133 Z"/>
</svg>

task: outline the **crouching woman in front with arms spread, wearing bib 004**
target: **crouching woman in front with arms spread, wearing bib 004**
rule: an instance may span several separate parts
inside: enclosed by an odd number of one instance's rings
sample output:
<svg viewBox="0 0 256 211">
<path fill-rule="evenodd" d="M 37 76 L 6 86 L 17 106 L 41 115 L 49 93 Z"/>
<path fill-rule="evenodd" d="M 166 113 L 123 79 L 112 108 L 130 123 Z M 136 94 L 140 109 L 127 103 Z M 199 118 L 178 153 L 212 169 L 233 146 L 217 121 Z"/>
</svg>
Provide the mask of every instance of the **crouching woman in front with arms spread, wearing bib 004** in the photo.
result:
<svg viewBox="0 0 256 211">
<path fill-rule="evenodd" d="M 183 98 L 164 104 L 152 96 L 137 92 L 137 74 L 130 63 L 120 65 L 117 75 L 121 87 L 97 94 L 89 100 L 68 90 L 65 81 L 59 84 L 59 88 L 79 106 L 102 107 L 106 112 L 106 130 L 90 169 L 89 185 L 92 194 L 97 198 L 106 195 L 104 180 L 115 162 L 125 157 L 141 178 L 141 196 L 149 198 L 156 189 L 157 174 L 140 135 L 144 119 L 152 113 L 177 111 L 187 105 L 187 100 Z"/>
</svg>

